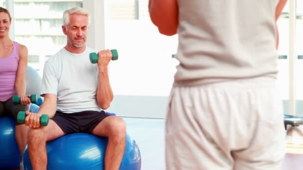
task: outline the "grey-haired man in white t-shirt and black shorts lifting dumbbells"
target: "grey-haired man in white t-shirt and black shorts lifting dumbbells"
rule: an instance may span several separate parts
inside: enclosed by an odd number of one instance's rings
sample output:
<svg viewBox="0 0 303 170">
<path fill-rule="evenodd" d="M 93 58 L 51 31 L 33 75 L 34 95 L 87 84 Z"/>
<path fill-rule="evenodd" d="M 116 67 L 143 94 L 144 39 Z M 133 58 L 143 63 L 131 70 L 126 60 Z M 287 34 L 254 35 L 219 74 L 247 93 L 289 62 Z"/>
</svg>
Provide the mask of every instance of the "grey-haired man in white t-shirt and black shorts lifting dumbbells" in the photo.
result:
<svg viewBox="0 0 303 170">
<path fill-rule="evenodd" d="M 110 116 L 107 109 L 113 100 L 109 82 L 110 50 L 98 52 L 98 64 L 91 64 L 93 49 L 85 45 L 90 24 L 87 10 L 74 7 L 63 14 L 62 30 L 67 44 L 50 57 L 44 66 L 41 95 L 44 102 L 37 114 L 26 112 L 28 153 L 33 170 L 47 169 L 46 142 L 60 136 L 85 132 L 108 137 L 105 170 L 119 170 L 126 145 L 123 119 Z M 48 114 L 47 126 L 40 126 L 39 116 Z"/>
</svg>

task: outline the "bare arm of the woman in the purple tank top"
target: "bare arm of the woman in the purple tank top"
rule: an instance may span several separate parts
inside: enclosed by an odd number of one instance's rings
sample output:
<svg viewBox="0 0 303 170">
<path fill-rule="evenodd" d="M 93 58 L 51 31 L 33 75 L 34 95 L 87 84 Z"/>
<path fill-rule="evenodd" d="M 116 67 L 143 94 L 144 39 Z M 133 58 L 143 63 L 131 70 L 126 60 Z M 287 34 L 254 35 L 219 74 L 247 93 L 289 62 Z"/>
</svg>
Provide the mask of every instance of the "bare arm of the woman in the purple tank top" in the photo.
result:
<svg viewBox="0 0 303 170">
<path fill-rule="evenodd" d="M 19 55 L 19 62 L 18 62 L 18 69 L 16 73 L 16 80 L 15 80 L 15 89 L 17 95 L 20 96 L 20 103 L 24 105 L 28 105 L 30 103 L 30 99 L 27 95 L 25 95 L 25 75 L 27 71 L 27 59 L 28 59 L 28 52 L 27 48 L 24 45 L 19 44 L 18 49 Z"/>
</svg>

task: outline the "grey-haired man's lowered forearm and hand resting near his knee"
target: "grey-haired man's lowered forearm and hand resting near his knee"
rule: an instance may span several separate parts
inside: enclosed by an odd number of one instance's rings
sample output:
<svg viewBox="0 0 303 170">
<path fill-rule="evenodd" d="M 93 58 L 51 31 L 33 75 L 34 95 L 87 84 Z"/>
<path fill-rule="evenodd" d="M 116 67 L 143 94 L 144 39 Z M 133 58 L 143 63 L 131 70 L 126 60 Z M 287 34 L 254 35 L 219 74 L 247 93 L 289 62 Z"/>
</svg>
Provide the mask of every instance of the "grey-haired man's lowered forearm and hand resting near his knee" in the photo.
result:
<svg viewBox="0 0 303 170">
<path fill-rule="evenodd" d="M 47 114 L 49 118 L 53 118 L 57 110 L 57 95 L 55 94 L 45 94 L 44 101 L 41 104 L 38 113 L 30 113 L 26 111 L 26 118 L 24 124 L 31 128 L 40 127 L 40 116 L 42 114 Z"/>
</svg>

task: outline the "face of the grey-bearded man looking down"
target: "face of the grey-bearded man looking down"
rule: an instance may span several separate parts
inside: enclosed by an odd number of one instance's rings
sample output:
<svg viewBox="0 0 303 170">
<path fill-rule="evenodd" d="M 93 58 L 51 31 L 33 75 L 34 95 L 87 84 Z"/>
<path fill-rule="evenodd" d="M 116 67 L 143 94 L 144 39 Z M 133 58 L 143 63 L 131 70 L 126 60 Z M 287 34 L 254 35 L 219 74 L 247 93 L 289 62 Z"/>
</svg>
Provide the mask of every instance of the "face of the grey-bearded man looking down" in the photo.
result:
<svg viewBox="0 0 303 170">
<path fill-rule="evenodd" d="M 68 43 L 76 48 L 81 48 L 85 45 L 87 31 L 88 31 L 88 18 L 86 15 L 73 13 L 70 15 L 69 24 L 63 32 L 67 35 Z"/>
</svg>

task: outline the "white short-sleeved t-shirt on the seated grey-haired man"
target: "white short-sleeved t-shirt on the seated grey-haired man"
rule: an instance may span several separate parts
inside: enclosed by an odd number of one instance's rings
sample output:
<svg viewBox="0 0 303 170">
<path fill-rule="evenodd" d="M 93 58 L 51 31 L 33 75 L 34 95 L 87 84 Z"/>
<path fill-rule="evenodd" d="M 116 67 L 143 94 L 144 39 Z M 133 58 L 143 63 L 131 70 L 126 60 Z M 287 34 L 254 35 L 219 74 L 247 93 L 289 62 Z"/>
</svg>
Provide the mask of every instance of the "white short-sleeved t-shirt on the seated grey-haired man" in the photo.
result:
<svg viewBox="0 0 303 170">
<path fill-rule="evenodd" d="M 74 113 L 86 110 L 100 111 L 96 93 L 98 66 L 91 64 L 89 54 L 95 52 L 86 47 L 80 54 L 62 48 L 44 64 L 41 96 L 57 95 L 57 110 Z"/>
</svg>

